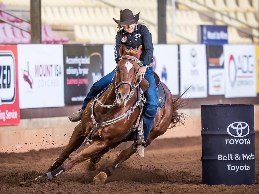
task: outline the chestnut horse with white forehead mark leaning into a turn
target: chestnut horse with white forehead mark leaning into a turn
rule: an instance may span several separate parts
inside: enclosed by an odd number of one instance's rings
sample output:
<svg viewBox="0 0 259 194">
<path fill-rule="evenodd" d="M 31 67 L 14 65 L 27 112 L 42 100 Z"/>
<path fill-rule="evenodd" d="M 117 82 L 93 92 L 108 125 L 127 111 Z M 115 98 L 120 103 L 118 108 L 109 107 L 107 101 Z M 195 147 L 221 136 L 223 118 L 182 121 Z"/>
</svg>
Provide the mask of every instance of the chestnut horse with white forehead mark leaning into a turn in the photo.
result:
<svg viewBox="0 0 259 194">
<path fill-rule="evenodd" d="M 138 49 L 128 50 L 125 48 L 124 45 L 122 45 L 120 47 L 120 56 L 130 55 L 139 59 L 139 56 L 141 54 L 141 47 L 142 46 L 140 46 Z M 125 66 L 127 62 L 133 64 L 131 69 L 127 65 Z M 132 59 L 122 57 L 122 59 L 119 61 L 113 83 L 99 99 L 99 102 L 101 102 L 103 105 L 111 105 L 114 103 L 114 99 L 117 99 L 117 106 L 113 108 L 111 113 L 109 112 L 108 114 L 106 114 L 109 111 L 109 108 L 103 108 L 102 106 L 99 106 L 98 103 L 95 103 L 93 107 L 93 116 L 97 123 L 100 122 L 104 116 L 106 117 L 105 120 L 112 120 L 113 118 L 119 117 L 125 114 L 125 112 L 127 112 L 130 107 L 134 106 L 134 104 L 138 100 L 137 92 L 134 92 L 131 98 L 129 98 L 129 96 L 131 94 L 131 89 L 134 89 L 134 85 L 136 84 L 135 80 L 137 77 L 138 68 L 139 67 L 137 61 L 134 61 Z M 117 83 L 120 84 L 118 85 Z M 156 113 L 156 117 L 148 136 L 146 146 L 148 146 L 155 138 L 164 134 L 168 128 L 172 128 L 183 123 L 181 120 L 182 115 L 177 112 L 178 108 L 184 106 L 183 100 L 180 98 L 181 96 L 173 100 L 169 89 L 163 83 L 161 84 L 166 94 L 166 103 L 165 106 L 162 109 L 158 110 Z M 115 91 L 117 92 L 117 97 Z M 91 102 L 93 102 L 93 100 Z M 115 123 L 103 127 L 100 126 L 99 130 L 96 131 L 96 133 L 93 135 L 90 146 L 85 148 L 82 152 L 72 157 L 69 157 L 69 155 L 73 151 L 75 151 L 78 147 L 82 145 L 85 137 L 88 136 L 88 133 L 93 128 L 91 117 L 91 102 L 85 108 L 82 115 L 82 122 L 75 127 L 75 130 L 70 138 L 68 145 L 61 152 L 60 156 L 55 161 L 56 163 L 54 163 L 50 168 L 52 170 L 52 175 L 49 174 L 51 176 L 50 178 L 48 176 L 49 179 L 63 173 L 65 170 L 71 169 L 78 163 L 88 159 L 90 159 L 90 162 L 88 163 L 88 169 L 94 170 L 95 165 L 100 160 L 101 156 L 108 152 L 110 149 L 117 147 L 121 143 L 121 141 L 118 141 L 134 124 L 140 113 L 140 110 L 137 107 L 131 114 L 129 120 L 127 120 L 127 117 L 125 117 Z M 135 136 L 136 133 L 132 132 L 128 137 L 123 140 L 123 142 L 134 140 Z M 123 150 L 119 154 L 116 161 L 114 161 L 111 166 L 107 167 L 107 169 L 96 175 L 93 178 L 93 181 L 105 182 L 107 176 L 110 176 L 113 173 L 114 169 L 121 162 L 130 158 L 130 156 L 134 153 L 135 150 L 132 146 Z M 49 171 L 47 172 L 50 173 Z M 40 178 L 46 176 L 47 174 L 45 174 L 45 176 L 40 176 Z M 36 179 L 34 179 L 34 181 L 39 182 L 40 178 L 37 177 Z"/>
</svg>

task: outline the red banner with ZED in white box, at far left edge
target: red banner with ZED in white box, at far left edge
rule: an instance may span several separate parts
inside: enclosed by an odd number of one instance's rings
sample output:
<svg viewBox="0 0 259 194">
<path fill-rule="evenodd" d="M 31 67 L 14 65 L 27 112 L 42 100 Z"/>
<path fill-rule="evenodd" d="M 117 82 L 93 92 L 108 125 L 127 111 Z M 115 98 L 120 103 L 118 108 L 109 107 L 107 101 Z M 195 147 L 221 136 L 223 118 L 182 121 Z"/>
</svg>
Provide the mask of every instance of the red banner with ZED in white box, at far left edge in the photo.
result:
<svg viewBox="0 0 259 194">
<path fill-rule="evenodd" d="M 17 45 L 0 45 L 0 126 L 19 123 Z"/>
</svg>

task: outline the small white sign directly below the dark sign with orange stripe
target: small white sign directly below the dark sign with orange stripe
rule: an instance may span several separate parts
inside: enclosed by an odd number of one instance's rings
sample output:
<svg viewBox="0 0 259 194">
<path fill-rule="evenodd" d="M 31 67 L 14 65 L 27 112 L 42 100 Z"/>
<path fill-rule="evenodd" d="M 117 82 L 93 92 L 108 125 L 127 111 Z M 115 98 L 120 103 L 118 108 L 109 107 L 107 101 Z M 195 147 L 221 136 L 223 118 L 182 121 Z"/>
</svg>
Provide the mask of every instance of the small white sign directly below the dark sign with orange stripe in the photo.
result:
<svg viewBox="0 0 259 194">
<path fill-rule="evenodd" d="M 209 95 L 224 95 L 224 69 L 208 69 L 208 89 Z"/>
</svg>

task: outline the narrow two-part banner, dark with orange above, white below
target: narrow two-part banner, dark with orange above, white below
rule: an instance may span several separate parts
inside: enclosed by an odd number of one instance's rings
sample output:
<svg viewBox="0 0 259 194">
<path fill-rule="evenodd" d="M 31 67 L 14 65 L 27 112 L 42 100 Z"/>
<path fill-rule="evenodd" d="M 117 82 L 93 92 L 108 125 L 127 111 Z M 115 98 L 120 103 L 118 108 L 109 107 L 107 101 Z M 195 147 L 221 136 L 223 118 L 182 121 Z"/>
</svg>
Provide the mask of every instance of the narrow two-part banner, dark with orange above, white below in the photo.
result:
<svg viewBox="0 0 259 194">
<path fill-rule="evenodd" d="M 224 84 L 224 55 L 222 45 L 207 45 L 208 62 L 208 94 L 223 95 Z"/>
</svg>

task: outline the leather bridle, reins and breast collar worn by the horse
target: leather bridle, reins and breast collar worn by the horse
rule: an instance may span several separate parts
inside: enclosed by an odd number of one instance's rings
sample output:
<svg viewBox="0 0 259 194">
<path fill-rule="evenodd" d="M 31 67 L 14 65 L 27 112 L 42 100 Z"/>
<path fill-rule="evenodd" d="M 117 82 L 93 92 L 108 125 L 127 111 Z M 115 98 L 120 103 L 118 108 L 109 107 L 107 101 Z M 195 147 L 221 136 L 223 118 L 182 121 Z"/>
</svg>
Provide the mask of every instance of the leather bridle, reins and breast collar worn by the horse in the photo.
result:
<svg viewBox="0 0 259 194">
<path fill-rule="evenodd" d="M 141 62 L 134 56 L 131 56 L 131 55 L 125 55 L 125 56 L 122 56 L 120 58 L 121 59 L 129 59 L 129 60 L 133 60 L 135 62 L 139 64 L 141 64 Z M 120 61 L 119 60 L 119 61 Z M 140 63 L 139 63 L 140 62 Z M 129 110 L 127 110 L 124 114 L 112 119 L 112 120 L 109 120 L 109 121 L 106 121 L 104 122 L 105 118 L 111 113 L 111 111 L 113 110 L 114 107 L 116 107 L 118 105 L 117 103 L 117 99 L 118 99 L 118 88 L 122 85 L 122 84 L 128 84 L 130 85 L 130 99 L 132 98 L 132 96 L 134 95 L 134 90 L 139 86 L 142 78 L 140 79 L 140 81 L 138 82 L 138 77 L 136 75 L 136 79 L 135 79 L 135 82 L 134 82 L 134 85 L 132 86 L 131 83 L 129 81 L 121 81 L 119 84 L 117 83 L 117 72 L 118 72 L 118 65 L 116 66 L 116 73 L 115 73 L 115 94 L 116 94 L 116 99 L 114 100 L 113 104 L 112 105 L 104 105 L 102 102 L 99 101 L 99 99 L 108 91 L 109 87 L 111 86 L 111 84 L 109 84 L 106 88 L 104 88 L 102 90 L 101 93 L 99 93 L 95 100 L 93 100 L 93 102 L 91 102 L 91 118 L 92 118 L 92 122 L 93 122 L 93 128 L 91 129 L 91 131 L 89 132 L 88 136 L 85 138 L 85 142 L 83 143 L 83 146 L 89 142 L 90 143 L 90 139 L 93 138 L 93 135 L 94 133 L 98 130 L 98 133 L 99 133 L 99 136 L 101 135 L 100 134 L 100 131 L 99 131 L 99 127 L 101 126 L 105 126 L 105 125 L 109 125 L 109 124 L 112 124 L 112 123 L 115 123 L 117 121 L 120 121 L 121 119 L 125 118 L 126 116 L 128 116 L 127 118 L 127 121 L 129 120 L 130 118 L 130 115 L 134 112 L 135 108 L 137 106 L 139 106 L 139 103 L 141 100 L 143 100 L 143 102 L 146 101 L 146 99 L 143 97 L 143 93 L 141 93 L 140 95 L 140 98 L 136 101 L 136 103 L 129 108 Z M 129 100 L 130 100 L 129 99 Z M 97 104 L 103 108 L 110 108 L 109 111 L 102 117 L 102 120 L 97 123 L 95 118 L 94 118 L 94 115 L 93 115 L 93 108 L 94 108 L 94 105 L 95 103 L 97 102 Z M 100 136 L 101 137 L 101 136 Z"/>
</svg>

